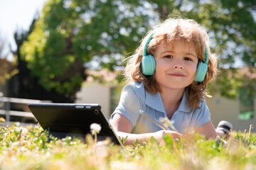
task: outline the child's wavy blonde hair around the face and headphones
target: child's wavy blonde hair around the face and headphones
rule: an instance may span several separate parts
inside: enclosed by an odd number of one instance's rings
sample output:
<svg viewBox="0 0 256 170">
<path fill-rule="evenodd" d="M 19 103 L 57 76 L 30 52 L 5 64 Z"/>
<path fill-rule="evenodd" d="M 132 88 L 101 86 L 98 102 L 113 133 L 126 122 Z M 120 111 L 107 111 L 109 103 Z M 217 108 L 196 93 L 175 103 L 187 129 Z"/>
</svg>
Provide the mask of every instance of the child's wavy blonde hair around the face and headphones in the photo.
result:
<svg viewBox="0 0 256 170">
<path fill-rule="evenodd" d="M 142 73 L 142 52 L 146 45 L 146 40 L 152 35 L 152 38 L 147 45 L 146 53 L 154 56 L 156 47 L 163 43 L 175 42 L 176 40 L 183 40 L 193 45 L 196 50 L 196 55 L 199 61 L 205 61 L 206 48 L 208 49 L 209 62 L 206 77 L 202 82 L 193 81 L 186 87 L 186 94 L 188 96 L 188 104 L 191 111 L 195 107 L 199 107 L 199 102 L 203 101 L 204 96 L 207 96 L 207 84 L 215 79 L 218 69 L 215 54 L 211 53 L 208 46 L 208 34 L 206 30 L 200 26 L 196 21 L 183 18 L 169 18 L 164 23 L 159 24 L 149 31 L 141 44 L 134 52 L 134 54 L 127 58 L 127 66 L 124 69 L 124 77 L 127 82 L 137 81 L 143 82 L 146 91 L 154 94 L 161 92 L 159 85 L 156 82 L 155 74 L 146 76 Z"/>
</svg>

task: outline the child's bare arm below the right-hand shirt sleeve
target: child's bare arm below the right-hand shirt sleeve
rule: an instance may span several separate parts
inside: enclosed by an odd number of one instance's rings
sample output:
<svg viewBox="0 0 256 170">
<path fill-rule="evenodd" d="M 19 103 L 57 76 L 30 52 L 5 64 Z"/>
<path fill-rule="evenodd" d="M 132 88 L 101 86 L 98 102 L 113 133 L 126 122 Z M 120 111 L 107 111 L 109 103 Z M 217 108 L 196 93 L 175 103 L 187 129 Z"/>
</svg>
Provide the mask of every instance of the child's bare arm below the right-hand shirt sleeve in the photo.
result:
<svg viewBox="0 0 256 170">
<path fill-rule="evenodd" d="M 215 128 L 211 121 L 208 121 L 208 123 L 200 126 L 199 128 L 196 128 L 195 132 L 198 132 L 199 134 L 206 136 L 206 138 L 215 139 L 215 137 L 217 136 Z"/>
</svg>

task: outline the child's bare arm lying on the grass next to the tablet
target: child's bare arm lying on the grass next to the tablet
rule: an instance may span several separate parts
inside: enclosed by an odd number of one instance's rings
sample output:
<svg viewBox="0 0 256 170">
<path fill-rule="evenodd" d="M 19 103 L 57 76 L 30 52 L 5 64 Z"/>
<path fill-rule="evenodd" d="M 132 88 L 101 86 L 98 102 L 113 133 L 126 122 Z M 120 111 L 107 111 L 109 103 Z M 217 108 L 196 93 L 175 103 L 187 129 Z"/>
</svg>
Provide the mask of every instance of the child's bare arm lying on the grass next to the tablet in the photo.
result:
<svg viewBox="0 0 256 170">
<path fill-rule="evenodd" d="M 171 130 L 160 130 L 158 132 L 132 134 L 132 123 L 127 118 L 125 118 L 124 115 L 121 115 L 119 113 L 114 114 L 111 125 L 117 132 L 117 135 L 119 135 L 119 137 L 127 137 L 124 145 L 133 145 L 136 140 L 138 140 L 138 142 L 142 144 L 142 142 L 148 142 L 151 137 L 154 137 L 161 144 L 164 144 L 163 137 L 166 134 L 169 134 L 171 137 L 174 138 L 182 136 L 180 133 Z"/>
</svg>

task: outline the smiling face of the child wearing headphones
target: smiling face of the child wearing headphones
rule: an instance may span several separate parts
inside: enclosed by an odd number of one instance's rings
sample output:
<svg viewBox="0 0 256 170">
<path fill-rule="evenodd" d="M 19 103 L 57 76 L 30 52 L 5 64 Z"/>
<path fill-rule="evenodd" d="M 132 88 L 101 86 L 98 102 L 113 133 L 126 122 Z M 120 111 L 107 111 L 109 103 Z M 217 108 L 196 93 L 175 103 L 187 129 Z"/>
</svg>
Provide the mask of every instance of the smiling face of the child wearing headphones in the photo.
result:
<svg viewBox="0 0 256 170">
<path fill-rule="evenodd" d="M 185 89 L 196 77 L 198 57 L 193 45 L 178 40 L 156 47 L 156 82 L 161 90 Z"/>
</svg>

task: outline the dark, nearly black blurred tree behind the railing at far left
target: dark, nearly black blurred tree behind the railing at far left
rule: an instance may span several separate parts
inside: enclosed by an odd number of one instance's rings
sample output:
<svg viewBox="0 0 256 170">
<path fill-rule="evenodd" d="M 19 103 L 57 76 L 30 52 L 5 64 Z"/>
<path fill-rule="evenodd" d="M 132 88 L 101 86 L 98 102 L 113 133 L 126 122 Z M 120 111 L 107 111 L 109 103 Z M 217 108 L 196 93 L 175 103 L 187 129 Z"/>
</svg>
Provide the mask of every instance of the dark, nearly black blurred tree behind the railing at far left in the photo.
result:
<svg viewBox="0 0 256 170">
<path fill-rule="evenodd" d="M 9 80 L 9 94 L 10 97 L 16 98 L 33 98 L 40 100 L 50 100 L 53 102 L 70 103 L 75 100 L 75 91 L 70 94 L 59 94 L 55 89 L 46 91 L 46 89 L 38 84 L 39 77 L 31 73 L 28 69 L 27 62 L 23 60 L 20 54 L 21 45 L 28 39 L 36 22 L 36 17 L 33 19 L 28 31 L 18 31 L 14 33 L 14 39 L 17 45 L 17 50 L 13 51 L 14 58 L 17 61 L 18 74 L 11 77 Z M 32 74 L 32 76 L 31 76 Z"/>
</svg>

